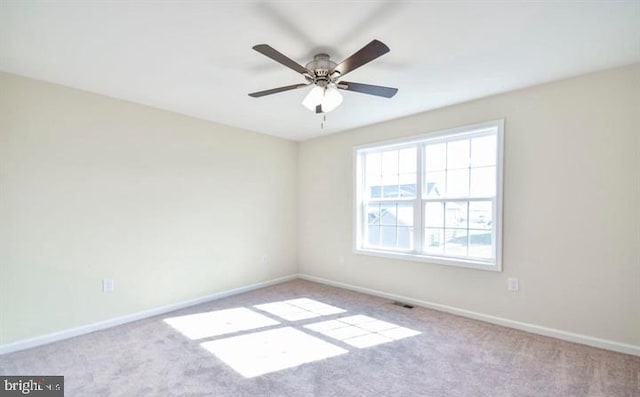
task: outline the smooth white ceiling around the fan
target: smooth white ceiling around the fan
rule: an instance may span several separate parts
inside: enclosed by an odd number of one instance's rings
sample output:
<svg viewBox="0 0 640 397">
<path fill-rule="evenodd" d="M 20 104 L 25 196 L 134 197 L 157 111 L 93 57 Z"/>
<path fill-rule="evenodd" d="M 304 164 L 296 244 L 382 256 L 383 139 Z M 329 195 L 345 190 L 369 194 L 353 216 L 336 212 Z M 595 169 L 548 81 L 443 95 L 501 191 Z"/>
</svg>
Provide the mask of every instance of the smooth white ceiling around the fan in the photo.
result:
<svg viewBox="0 0 640 397">
<path fill-rule="evenodd" d="M 0 1 L 1 70 L 295 140 L 640 61 L 638 0 Z M 310 88 L 247 95 L 303 82 L 255 44 L 304 65 L 374 38 L 348 80 L 392 99 L 343 92 L 321 129 Z"/>
</svg>

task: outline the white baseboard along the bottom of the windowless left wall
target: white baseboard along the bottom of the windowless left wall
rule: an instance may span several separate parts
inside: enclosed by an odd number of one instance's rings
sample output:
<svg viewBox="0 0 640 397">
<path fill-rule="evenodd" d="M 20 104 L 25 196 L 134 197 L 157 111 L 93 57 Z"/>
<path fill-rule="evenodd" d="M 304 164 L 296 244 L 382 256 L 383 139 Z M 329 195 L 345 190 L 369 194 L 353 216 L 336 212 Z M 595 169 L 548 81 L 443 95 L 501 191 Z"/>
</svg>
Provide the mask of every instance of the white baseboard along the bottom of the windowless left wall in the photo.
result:
<svg viewBox="0 0 640 397">
<path fill-rule="evenodd" d="M 137 320 L 142 320 L 148 317 L 157 316 L 159 314 L 169 313 L 174 310 L 198 305 L 200 303 L 210 302 L 217 299 L 226 298 L 232 295 L 238 295 L 244 292 L 249 292 L 256 289 L 268 287 L 271 285 L 284 283 L 285 281 L 294 280 L 296 278 L 297 278 L 296 275 L 280 277 L 273 280 L 263 281 L 260 283 L 251 284 L 251 285 L 247 285 L 239 288 L 234 288 L 227 291 L 216 292 L 215 294 L 203 296 L 200 298 L 190 299 L 188 301 L 178 302 L 171 305 L 144 310 L 138 313 L 128 314 L 126 316 L 116 317 L 116 318 L 100 321 L 93 324 L 83 325 L 80 327 L 71 328 L 64 331 L 60 331 L 60 332 L 54 332 L 51 334 L 37 336 L 34 338 L 19 340 L 16 342 L 5 344 L 5 345 L 0 345 L 0 355 L 19 351 L 19 350 L 29 349 L 31 347 L 45 345 L 52 342 L 57 342 L 63 339 L 73 338 L 74 336 L 84 335 L 90 332 L 95 332 L 95 331 L 103 330 L 106 328 L 115 327 L 117 325 L 130 323 L 132 321 L 137 321 Z"/>
</svg>

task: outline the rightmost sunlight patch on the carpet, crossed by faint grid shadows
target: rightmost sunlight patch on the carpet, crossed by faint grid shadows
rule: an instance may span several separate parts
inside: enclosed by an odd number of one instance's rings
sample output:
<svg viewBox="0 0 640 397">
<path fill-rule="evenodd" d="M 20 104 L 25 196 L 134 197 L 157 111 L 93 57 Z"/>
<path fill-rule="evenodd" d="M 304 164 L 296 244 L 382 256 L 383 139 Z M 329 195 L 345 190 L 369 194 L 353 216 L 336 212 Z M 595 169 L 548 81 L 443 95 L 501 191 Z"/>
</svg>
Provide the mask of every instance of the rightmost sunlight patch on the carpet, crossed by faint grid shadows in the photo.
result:
<svg viewBox="0 0 640 397">
<path fill-rule="evenodd" d="M 361 349 L 420 334 L 418 331 L 364 315 L 342 317 L 304 327 Z"/>
</svg>

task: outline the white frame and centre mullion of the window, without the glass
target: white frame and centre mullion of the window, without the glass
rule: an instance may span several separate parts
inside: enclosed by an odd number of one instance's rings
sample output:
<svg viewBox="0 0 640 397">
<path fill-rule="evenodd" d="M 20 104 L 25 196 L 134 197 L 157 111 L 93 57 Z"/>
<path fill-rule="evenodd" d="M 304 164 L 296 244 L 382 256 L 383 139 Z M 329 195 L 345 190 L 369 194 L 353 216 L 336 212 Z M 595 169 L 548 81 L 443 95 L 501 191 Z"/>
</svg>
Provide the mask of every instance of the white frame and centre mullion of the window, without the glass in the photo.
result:
<svg viewBox="0 0 640 397">
<path fill-rule="evenodd" d="M 424 178 L 424 162 L 423 151 L 424 144 L 437 142 L 446 142 L 449 140 L 461 139 L 465 137 L 476 137 L 482 134 L 496 135 L 496 195 L 493 199 L 493 221 L 494 221 L 494 258 L 488 260 L 480 260 L 470 257 L 454 257 L 447 255 L 430 255 L 421 252 L 422 249 L 422 233 L 424 230 L 424 217 L 422 215 L 422 207 L 428 199 L 422 197 L 422 182 Z M 414 206 L 414 249 L 411 251 L 401 250 L 385 250 L 372 249 L 364 247 L 364 173 L 362 169 L 364 154 L 370 151 L 378 151 L 385 149 L 398 149 L 407 146 L 417 145 L 419 150 L 417 154 L 417 176 L 416 176 L 416 198 L 411 199 L 412 202 L 418 202 L 420 205 Z M 353 177 L 354 177 L 354 202 L 353 202 L 353 252 L 355 254 L 364 254 L 379 256 L 391 259 L 409 260 L 434 263 L 440 265 L 459 266 L 473 269 L 482 269 L 490 271 L 502 271 L 502 192 L 503 192 L 503 169 L 504 169 L 504 119 L 492 120 L 478 124 L 465 125 L 462 127 L 435 131 L 427 134 L 411 136 L 401 139 L 386 140 L 382 142 L 369 143 L 365 145 L 355 146 L 353 148 Z M 454 198 L 449 199 L 454 201 Z M 473 201 L 473 197 L 461 198 L 462 201 Z M 403 201 L 402 198 L 391 199 L 391 201 Z M 446 200 L 443 200 L 446 201 Z"/>
</svg>

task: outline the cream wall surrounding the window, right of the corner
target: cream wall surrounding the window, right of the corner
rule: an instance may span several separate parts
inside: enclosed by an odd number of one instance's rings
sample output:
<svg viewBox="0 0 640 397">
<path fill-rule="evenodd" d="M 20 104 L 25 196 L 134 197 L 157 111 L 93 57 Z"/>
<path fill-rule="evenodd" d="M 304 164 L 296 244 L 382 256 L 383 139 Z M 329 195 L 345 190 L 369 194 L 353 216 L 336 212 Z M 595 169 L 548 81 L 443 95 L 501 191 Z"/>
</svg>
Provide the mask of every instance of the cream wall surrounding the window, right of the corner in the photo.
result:
<svg viewBox="0 0 640 397">
<path fill-rule="evenodd" d="M 303 142 L 299 271 L 640 345 L 639 114 L 636 64 Z M 354 145 L 501 118 L 502 273 L 352 253 Z"/>
</svg>

